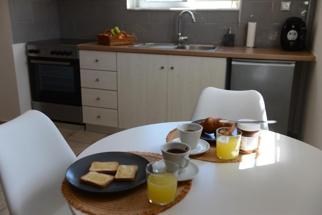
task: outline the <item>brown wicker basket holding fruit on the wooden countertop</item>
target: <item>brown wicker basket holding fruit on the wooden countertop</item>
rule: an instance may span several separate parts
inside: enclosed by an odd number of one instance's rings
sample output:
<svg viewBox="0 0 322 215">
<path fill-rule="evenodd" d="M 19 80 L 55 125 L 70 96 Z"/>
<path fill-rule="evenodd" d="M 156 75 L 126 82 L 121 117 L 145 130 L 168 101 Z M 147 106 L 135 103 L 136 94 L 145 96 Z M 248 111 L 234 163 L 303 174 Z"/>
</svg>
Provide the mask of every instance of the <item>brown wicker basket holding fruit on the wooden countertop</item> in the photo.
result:
<svg viewBox="0 0 322 215">
<path fill-rule="evenodd" d="M 133 45 L 134 35 L 128 35 L 125 31 L 120 31 L 116 36 L 106 36 L 104 34 L 111 33 L 110 29 L 106 29 L 103 34 L 97 34 L 97 40 L 104 45 Z M 124 34 L 125 38 L 118 39 L 120 34 Z"/>
</svg>

